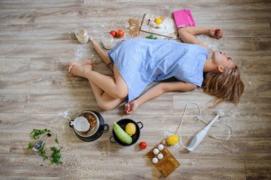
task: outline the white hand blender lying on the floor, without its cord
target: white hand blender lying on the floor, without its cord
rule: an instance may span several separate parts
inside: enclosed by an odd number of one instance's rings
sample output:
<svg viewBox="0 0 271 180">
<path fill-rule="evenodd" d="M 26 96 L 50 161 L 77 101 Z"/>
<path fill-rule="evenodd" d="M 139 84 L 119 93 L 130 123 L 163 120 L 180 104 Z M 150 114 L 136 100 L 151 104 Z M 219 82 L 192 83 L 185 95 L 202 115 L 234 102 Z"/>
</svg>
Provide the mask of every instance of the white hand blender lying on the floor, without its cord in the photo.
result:
<svg viewBox="0 0 271 180">
<path fill-rule="evenodd" d="M 185 147 L 189 152 L 192 152 L 196 147 L 198 147 L 198 144 L 203 141 L 204 137 L 208 133 L 210 127 L 215 123 L 216 120 L 218 120 L 219 117 L 223 117 L 225 115 L 224 112 L 218 111 L 215 118 L 207 125 L 205 126 L 198 134 L 193 137 L 188 147 Z"/>
</svg>

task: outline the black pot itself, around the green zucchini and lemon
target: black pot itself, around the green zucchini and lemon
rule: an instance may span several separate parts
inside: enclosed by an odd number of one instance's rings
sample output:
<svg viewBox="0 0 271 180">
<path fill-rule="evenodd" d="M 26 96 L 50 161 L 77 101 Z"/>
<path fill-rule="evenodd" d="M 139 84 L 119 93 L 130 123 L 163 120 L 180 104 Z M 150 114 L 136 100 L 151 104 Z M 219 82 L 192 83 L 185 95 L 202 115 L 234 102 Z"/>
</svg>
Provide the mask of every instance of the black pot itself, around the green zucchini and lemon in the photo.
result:
<svg viewBox="0 0 271 180">
<path fill-rule="evenodd" d="M 123 142 L 121 142 L 121 141 L 118 139 L 118 137 L 116 136 L 114 130 L 112 130 L 112 134 L 113 134 L 113 135 L 109 138 L 110 142 L 112 142 L 112 143 L 115 143 L 115 142 L 116 142 L 116 143 L 120 144 L 121 146 L 128 147 L 128 146 L 131 146 L 131 145 L 135 144 L 135 143 L 138 141 L 138 139 L 139 139 L 139 137 L 140 137 L 140 129 L 143 128 L 142 122 L 135 122 L 134 120 L 131 120 L 131 119 L 122 119 L 122 120 L 119 120 L 119 121 L 117 122 L 117 124 L 118 124 L 122 129 L 125 129 L 125 128 L 126 128 L 126 125 L 127 125 L 129 122 L 133 122 L 133 124 L 136 125 L 136 134 L 133 134 L 133 136 L 131 136 L 132 139 L 133 139 L 132 143 L 127 145 L 127 144 L 124 144 Z M 141 127 L 139 127 L 138 124 L 140 124 Z"/>
</svg>

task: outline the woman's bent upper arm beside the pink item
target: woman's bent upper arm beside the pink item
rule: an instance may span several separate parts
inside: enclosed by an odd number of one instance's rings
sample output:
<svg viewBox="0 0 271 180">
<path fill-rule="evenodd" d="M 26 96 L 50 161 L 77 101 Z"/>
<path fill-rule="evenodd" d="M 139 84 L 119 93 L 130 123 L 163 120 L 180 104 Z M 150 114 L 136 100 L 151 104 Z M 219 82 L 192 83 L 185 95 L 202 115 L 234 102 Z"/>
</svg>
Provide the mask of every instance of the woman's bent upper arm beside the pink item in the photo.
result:
<svg viewBox="0 0 271 180">
<path fill-rule="evenodd" d="M 222 38 L 223 36 L 223 31 L 220 28 L 205 28 L 200 26 L 179 28 L 178 33 L 184 43 L 198 44 L 206 49 L 208 49 L 208 47 L 203 42 L 198 40 L 195 35 L 207 34 L 213 38 Z"/>
</svg>

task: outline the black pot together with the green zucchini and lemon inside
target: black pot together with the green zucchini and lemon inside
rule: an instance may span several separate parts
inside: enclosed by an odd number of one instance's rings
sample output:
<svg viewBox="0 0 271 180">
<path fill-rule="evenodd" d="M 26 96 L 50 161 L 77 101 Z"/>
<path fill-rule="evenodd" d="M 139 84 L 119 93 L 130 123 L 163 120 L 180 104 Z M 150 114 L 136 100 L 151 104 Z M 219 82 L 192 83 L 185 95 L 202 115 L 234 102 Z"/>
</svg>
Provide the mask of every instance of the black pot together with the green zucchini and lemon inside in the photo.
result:
<svg viewBox="0 0 271 180">
<path fill-rule="evenodd" d="M 140 129 L 143 128 L 142 122 L 135 122 L 131 119 L 122 119 L 114 122 L 110 142 L 118 143 L 121 146 L 131 146 L 140 137 Z"/>
</svg>

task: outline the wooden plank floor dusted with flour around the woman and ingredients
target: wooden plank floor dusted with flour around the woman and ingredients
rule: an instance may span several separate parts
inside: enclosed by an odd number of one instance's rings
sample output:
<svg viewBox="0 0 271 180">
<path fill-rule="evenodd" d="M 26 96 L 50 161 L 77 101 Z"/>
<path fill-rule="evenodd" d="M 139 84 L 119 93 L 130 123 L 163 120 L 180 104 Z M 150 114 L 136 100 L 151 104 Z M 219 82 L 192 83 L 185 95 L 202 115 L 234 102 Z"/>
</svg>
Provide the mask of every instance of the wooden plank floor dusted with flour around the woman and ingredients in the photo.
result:
<svg viewBox="0 0 271 180">
<path fill-rule="evenodd" d="M 184 8 L 191 9 L 199 26 L 223 28 L 220 40 L 199 38 L 240 66 L 246 89 L 237 107 L 224 103 L 208 109 L 211 97 L 198 89 L 166 93 L 133 115 L 125 115 L 122 106 L 103 112 L 87 80 L 68 78 L 68 63 L 85 58 L 93 59 L 98 72 L 111 75 L 91 45 L 72 40 L 69 31 L 84 27 L 101 42 L 103 33 L 123 28 L 126 38 L 132 38 L 129 18 L 140 22 L 145 13 L 170 17 Z M 167 179 L 271 179 L 270 19 L 270 0 L 1 0 L 0 179 L 162 179 L 145 154 L 175 131 L 188 102 L 198 103 L 207 121 L 216 110 L 224 110 L 218 125 L 232 127 L 232 137 L 206 137 L 190 153 L 170 147 L 181 166 Z M 67 118 L 81 110 L 100 112 L 109 132 L 95 142 L 81 142 Z M 185 144 L 204 127 L 195 115 L 190 106 L 181 128 Z M 147 142 L 147 149 L 109 142 L 113 122 L 124 117 L 143 122 L 139 142 Z M 51 129 L 48 146 L 57 134 L 63 146 L 61 166 L 49 166 L 26 149 L 34 128 Z M 227 137 L 221 127 L 213 127 L 210 134 Z"/>
</svg>

